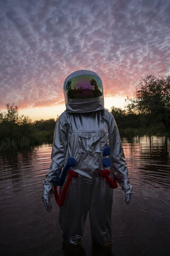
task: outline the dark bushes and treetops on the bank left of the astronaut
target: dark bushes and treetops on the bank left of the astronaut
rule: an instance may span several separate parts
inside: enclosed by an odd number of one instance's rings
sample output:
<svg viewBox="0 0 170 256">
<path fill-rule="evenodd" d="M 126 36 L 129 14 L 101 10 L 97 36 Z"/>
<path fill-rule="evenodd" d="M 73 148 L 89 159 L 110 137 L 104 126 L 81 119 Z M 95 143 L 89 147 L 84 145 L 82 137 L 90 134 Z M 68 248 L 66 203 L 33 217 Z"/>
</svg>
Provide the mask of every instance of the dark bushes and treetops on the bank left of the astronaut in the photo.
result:
<svg viewBox="0 0 170 256">
<path fill-rule="evenodd" d="M 14 103 L 6 104 L 7 111 L 0 112 L 0 150 L 20 149 L 52 143 L 57 118 L 31 123 L 31 119 L 18 114 Z"/>
</svg>

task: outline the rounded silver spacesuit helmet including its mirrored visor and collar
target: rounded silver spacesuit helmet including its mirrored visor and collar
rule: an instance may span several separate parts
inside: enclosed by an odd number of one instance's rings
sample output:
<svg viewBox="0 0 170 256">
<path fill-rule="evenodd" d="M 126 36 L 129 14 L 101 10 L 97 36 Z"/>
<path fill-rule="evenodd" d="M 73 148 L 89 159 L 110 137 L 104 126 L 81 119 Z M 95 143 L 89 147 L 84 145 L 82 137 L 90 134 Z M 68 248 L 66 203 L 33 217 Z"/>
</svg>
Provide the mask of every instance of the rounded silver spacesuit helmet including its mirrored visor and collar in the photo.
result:
<svg viewBox="0 0 170 256">
<path fill-rule="evenodd" d="M 104 109 L 103 83 L 94 71 L 78 70 L 67 76 L 64 97 L 66 111 L 71 113 Z"/>
</svg>

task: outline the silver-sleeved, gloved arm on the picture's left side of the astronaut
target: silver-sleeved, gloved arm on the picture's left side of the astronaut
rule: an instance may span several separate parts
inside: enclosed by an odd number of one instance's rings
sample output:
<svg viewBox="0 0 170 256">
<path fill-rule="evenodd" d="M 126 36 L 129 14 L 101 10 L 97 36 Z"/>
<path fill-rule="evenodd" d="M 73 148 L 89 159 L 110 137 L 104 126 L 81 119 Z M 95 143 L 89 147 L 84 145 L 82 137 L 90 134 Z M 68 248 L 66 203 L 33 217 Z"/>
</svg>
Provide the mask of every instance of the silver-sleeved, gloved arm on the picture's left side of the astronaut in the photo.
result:
<svg viewBox="0 0 170 256">
<path fill-rule="evenodd" d="M 52 148 L 52 163 L 49 171 L 46 174 L 46 179 L 43 182 L 44 194 L 43 202 L 47 211 L 50 212 L 52 206 L 50 205 L 50 197 L 53 196 L 53 187 L 60 178 L 61 170 L 64 164 L 65 153 L 67 149 L 67 121 L 66 114 L 62 113 L 58 118 Z"/>
</svg>

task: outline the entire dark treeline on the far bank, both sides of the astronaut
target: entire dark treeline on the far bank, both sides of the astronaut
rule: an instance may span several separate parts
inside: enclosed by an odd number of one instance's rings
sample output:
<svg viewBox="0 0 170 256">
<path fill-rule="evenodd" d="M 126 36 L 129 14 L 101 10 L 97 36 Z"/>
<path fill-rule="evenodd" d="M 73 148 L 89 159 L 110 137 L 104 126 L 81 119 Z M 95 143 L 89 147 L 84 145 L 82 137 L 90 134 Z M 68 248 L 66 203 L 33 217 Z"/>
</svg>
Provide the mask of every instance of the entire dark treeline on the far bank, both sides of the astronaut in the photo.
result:
<svg viewBox="0 0 170 256">
<path fill-rule="evenodd" d="M 0 150 L 20 149 L 52 143 L 56 119 L 31 122 L 18 114 L 18 106 L 6 104 L 0 111 Z M 164 135 L 170 137 L 170 76 L 145 76 L 136 86 L 134 98 L 124 109 L 112 107 L 121 137 Z"/>
</svg>

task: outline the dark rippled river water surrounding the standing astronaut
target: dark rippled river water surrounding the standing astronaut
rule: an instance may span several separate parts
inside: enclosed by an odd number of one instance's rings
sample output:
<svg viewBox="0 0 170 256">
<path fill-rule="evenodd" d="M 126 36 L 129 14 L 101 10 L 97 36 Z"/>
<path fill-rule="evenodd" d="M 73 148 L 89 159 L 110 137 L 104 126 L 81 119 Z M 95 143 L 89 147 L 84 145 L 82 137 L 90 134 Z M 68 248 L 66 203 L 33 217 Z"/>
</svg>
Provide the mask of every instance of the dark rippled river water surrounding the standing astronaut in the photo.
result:
<svg viewBox="0 0 170 256">
<path fill-rule="evenodd" d="M 114 189 L 115 256 L 170 255 L 170 142 L 164 137 L 122 139 L 134 190 L 130 205 Z M 47 213 L 41 196 L 52 146 L 0 156 L 1 255 L 63 255 L 58 206 Z M 89 219 L 82 245 L 91 255 Z"/>
</svg>

